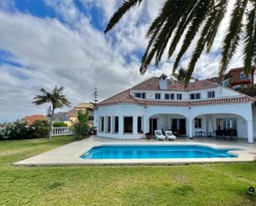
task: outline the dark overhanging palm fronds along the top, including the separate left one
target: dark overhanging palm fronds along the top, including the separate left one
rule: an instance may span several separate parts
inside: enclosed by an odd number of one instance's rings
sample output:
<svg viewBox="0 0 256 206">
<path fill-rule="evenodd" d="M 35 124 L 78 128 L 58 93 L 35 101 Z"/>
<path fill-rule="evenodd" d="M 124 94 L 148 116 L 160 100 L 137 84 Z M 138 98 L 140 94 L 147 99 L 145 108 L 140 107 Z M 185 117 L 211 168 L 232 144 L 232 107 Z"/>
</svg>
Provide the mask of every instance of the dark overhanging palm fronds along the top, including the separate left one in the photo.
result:
<svg viewBox="0 0 256 206">
<path fill-rule="evenodd" d="M 142 1 L 143 0 L 125 0 L 109 20 L 109 24 L 104 32 L 106 33 L 111 30 L 130 8 L 140 5 Z M 187 84 L 202 52 L 204 50 L 210 52 L 215 41 L 216 33 L 220 28 L 220 22 L 225 17 L 229 2 L 231 1 L 166 0 L 162 6 L 161 12 L 153 20 L 147 31 L 149 41 L 147 49 L 142 56 L 142 65 L 140 67 L 141 74 L 146 72 L 147 66 L 151 63 L 153 58 L 155 58 L 155 65 L 158 65 L 169 41 L 171 41 L 168 48 L 168 56 L 170 58 L 176 50 L 178 42 L 181 41 L 181 36 L 184 34 L 185 38 L 173 65 L 174 73 L 182 56 L 191 45 L 191 41 L 194 40 L 200 31 L 199 39 L 196 42 L 196 47 L 194 48 L 188 66 L 186 76 Z M 256 65 L 255 0 L 235 0 L 229 26 L 221 48 L 219 80 L 221 80 L 223 74 L 225 74 L 225 70 L 240 44 L 244 46 L 244 73 L 249 75 L 252 65 Z"/>
</svg>

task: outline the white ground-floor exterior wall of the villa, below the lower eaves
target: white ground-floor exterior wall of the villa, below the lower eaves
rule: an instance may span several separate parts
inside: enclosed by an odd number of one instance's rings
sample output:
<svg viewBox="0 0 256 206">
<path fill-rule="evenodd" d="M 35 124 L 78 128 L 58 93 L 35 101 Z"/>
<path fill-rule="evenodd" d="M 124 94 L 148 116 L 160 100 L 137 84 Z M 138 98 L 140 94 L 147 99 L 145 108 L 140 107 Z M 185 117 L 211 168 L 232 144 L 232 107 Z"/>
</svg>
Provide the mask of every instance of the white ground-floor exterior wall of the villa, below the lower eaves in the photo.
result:
<svg viewBox="0 0 256 206">
<path fill-rule="evenodd" d="M 254 119 L 253 119 L 254 111 Z M 236 104 L 217 104 L 210 106 L 196 107 L 170 107 L 170 106 L 142 106 L 135 104 L 114 104 L 109 106 L 101 106 L 94 113 L 94 127 L 99 127 L 99 117 L 104 119 L 104 132 L 99 132 L 99 137 L 136 139 L 144 137 L 145 133 L 149 132 L 149 119 L 157 118 L 157 129 L 170 129 L 171 119 L 186 118 L 186 136 L 195 137 L 196 132 L 215 132 L 217 129 L 217 118 L 235 117 L 237 119 L 238 137 L 249 138 L 249 124 L 256 126 L 256 108 L 252 111 L 251 103 L 236 103 Z M 119 117 L 119 132 L 114 133 L 114 117 Z M 107 117 L 112 117 L 111 132 L 107 131 Z M 134 117 L 133 131 L 137 130 L 137 117 L 142 117 L 143 134 L 123 133 L 123 117 Z M 202 127 L 195 128 L 195 117 L 202 119 Z M 134 121 L 135 120 L 135 121 Z M 254 121 L 253 121 L 254 120 Z M 249 123 L 248 123 L 249 122 Z M 191 125 L 191 127 L 190 127 Z M 253 131 L 253 130 L 252 130 Z M 253 131 L 254 132 L 254 131 Z"/>
</svg>

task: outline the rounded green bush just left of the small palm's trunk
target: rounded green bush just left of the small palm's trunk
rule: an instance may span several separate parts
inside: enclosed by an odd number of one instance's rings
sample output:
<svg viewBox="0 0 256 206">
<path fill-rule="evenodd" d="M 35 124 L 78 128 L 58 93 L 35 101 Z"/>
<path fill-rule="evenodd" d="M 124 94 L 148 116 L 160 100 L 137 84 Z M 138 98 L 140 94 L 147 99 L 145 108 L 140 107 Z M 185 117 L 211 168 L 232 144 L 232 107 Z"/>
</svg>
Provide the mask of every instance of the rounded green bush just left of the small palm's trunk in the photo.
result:
<svg viewBox="0 0 256 206">
<path fill-rule="evenodd" d="M 49 121 L 44 119 L 37 119 L 31 124 L 31 129 L 33 130 L 32 136 L 34 138 L 43 138 L 47 136 Z"/>
</svg>

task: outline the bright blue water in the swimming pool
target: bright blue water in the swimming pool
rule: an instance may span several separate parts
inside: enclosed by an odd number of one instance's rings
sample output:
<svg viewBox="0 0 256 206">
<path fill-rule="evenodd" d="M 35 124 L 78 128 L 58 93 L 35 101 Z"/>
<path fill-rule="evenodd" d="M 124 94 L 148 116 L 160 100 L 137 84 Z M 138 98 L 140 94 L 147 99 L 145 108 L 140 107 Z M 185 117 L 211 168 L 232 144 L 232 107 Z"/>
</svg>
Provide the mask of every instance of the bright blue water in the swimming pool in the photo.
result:
<svg viewBox="0 0 256 206">
<path fill-rule="evenodd" d="M 83 159 L 163 159 L 163 158 L 225 158 L 237 157 L 229 150 L 207 146 L 95 146 Z"/>
</svg>

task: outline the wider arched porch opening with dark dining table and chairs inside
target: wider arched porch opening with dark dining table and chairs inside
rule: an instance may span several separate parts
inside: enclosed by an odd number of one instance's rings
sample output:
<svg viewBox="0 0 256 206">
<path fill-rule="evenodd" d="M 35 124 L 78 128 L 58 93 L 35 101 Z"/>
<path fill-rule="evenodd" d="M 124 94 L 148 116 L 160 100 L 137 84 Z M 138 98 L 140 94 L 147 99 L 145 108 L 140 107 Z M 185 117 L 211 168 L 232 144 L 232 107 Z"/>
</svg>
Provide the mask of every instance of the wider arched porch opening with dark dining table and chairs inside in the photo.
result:
<svg viewBox="0 0 256 206">
<path fill-rule="evenodd" d="M 192 134 L 224 139 L 248 138 L 247 121 L 234 113 L 205 113 L 192 119 Z"/>
</svg>

